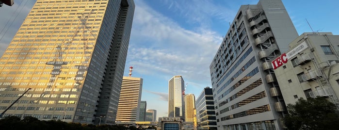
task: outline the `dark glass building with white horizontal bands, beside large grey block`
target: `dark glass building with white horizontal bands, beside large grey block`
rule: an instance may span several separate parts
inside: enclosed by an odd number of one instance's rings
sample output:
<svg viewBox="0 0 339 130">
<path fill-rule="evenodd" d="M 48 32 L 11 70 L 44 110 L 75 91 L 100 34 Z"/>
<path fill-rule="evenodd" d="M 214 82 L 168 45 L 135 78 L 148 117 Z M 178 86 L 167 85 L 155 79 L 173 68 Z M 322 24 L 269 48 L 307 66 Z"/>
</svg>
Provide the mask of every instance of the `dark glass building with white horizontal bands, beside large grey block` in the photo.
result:
<svg viewBox="0 0 339 130">
<path fill-rule="evenodd" d="M 205 87 L 199 97 L 196 98 L 195 109 L 198 129 L 217 129 L 213 93 L 210 87 Z"/>
</svg>

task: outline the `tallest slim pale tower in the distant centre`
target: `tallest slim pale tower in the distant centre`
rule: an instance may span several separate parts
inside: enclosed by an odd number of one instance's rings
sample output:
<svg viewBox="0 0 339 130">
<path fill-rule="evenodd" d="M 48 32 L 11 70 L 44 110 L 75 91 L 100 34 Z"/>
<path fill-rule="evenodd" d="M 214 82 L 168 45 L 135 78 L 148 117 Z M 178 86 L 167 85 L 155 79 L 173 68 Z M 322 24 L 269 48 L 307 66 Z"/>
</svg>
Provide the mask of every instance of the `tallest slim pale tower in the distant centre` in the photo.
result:
<svg viewBox="0 0 339 130">
<path fill-rule="evenodd" d="M 168 117 L 185 117 L 184 84 L 180 75 L 168 81 Z"/>
</svg>

